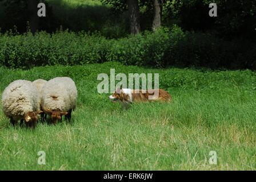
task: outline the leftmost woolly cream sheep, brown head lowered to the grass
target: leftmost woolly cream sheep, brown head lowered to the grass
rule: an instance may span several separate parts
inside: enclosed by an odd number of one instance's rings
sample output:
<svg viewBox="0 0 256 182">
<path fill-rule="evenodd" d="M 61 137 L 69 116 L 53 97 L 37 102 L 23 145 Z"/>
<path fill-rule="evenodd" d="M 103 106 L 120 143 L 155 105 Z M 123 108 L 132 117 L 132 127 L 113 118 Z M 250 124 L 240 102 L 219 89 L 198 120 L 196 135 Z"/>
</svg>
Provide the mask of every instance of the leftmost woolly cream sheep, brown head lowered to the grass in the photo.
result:
<svg viewBox="0 0 256 182">
<path fill-rule="evenodd" d="M 26 121 L 26 126 L 35 128 L 37 114 L 42 111 L 39 105 L 39 95 L 36 86 L 27 80 L 13 81 L 3 90 L 2 94 L 3 113 L 10 118 L 14 126 L 21 120 L 20 125 Z"/>
</svg>

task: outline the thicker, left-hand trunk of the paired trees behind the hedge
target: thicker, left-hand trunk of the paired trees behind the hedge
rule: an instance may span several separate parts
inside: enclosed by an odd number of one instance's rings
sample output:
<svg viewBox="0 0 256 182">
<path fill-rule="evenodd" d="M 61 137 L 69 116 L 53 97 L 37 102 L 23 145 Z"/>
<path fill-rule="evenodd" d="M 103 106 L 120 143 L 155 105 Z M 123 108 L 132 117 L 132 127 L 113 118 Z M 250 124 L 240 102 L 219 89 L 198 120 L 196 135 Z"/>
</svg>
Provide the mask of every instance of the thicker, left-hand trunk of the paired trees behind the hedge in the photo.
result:
<svg viewBox="0 0 256 182">
<path fill-rule="evenodd" d="M 130 32 L 131 34 L 138 34 L 141 31 L 139 24 L 139 3 L 138 0 L 127 0 L 128 11 L 130 18 Z"/>
</svg>

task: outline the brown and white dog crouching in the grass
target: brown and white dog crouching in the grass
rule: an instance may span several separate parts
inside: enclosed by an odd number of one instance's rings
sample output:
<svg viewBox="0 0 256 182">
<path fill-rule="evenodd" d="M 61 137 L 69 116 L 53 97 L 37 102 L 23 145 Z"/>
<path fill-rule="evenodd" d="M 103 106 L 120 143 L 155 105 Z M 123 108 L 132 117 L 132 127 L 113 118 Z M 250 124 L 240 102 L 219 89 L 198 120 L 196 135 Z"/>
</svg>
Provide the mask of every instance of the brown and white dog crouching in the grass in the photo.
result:
<svg viewBox="0 0 256 182">
<path fill-rule="evenodd" d="M 169 92 L 162 89 L 151 90 L 133 90 L 133 89 L 120 89 L 109 96 L 112 102 L 119 101 L 124 108 L 133 102 L 152 102 L 152 101 L 171 101 Z"/>
</svg>

